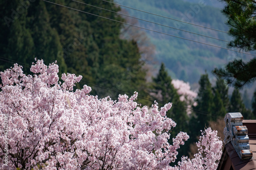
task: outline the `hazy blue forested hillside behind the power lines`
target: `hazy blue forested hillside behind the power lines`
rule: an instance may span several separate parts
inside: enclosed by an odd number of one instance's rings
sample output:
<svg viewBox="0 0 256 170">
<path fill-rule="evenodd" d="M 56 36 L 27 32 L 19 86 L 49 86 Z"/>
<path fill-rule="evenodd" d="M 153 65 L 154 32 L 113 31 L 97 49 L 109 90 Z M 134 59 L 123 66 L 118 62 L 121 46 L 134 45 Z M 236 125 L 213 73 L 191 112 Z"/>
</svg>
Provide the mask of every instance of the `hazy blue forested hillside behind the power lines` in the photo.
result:
<svg viewBox="0 0 256 170">
<path fill-rule="evenodd" d="M 226 41 L 231 39 L 227 33 L 220 32 L 228 31 L 228 27 L 225 24 L 226 18 L 221 13 L 221 9 L 216 8 L 223 6 L 223 4 L 217 1 L 185 2 L 163 0 L 116 0 L 115 2 L 124 6 L 165 16 L 160 17 L 121 6 L 122 10 L 127 11 L 131 16 L 172 27 L 168 28 L 156 25 L 155 23 L 138 20 L 137 25 L 146 29 L 224 48 L 227 47 L 228 42 Z M 188 23 L 168 19 L 166 17 L 185 22 L 192 22 L 196 25 L 214 28 L 220 31 L 190 25 Z M 182 30 L 193 32 L 195 34 L 184 32 Z M 215 67 L 220 67 L 234 58 L 243 58 L 245 60 L 251 58 L 249 55 L 228 51 L 223 48 L 193 42 L 174 36 L 164 35 L 148 30 L 146 30 L 146 33 L 148 37 L 150 37 L 152 43 L 156 46 L 157 60 L 165 63 L 169 74 L 172 75 L 173 78 L 188 81 L 191 84 L 197 83 L 200 75 L 204 74 L 205 70 L 207 70 L 207 72 L 211 72 Z M 212 78 L 211 74 L 209 76 Z"/>
</svg>

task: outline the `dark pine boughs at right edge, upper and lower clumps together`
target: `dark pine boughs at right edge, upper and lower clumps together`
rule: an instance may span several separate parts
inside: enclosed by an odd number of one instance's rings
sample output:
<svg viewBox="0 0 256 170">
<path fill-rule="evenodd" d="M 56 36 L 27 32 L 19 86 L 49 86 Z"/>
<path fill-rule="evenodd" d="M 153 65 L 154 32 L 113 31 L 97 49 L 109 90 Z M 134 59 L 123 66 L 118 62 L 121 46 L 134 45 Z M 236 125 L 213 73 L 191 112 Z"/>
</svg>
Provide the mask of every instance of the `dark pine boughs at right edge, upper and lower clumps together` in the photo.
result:
<svg viewBox="0 0 256 170">
<path fill-rule="evenodd" d="M 245 51 L 256 50 L 256 2 L 252 0 L 222 0 L 226 3 L 223 9 L 230 26 L 229 34 L 234 37 L 230 41 L 231 47 L 238 47 Z M 256 59 L 249 62 L 235 59 L 229 62 L 225 68 L 215 68 L 213 71 L 227 80 L 234 87 L 242 88 L 256 80 Z"/>
</svg>

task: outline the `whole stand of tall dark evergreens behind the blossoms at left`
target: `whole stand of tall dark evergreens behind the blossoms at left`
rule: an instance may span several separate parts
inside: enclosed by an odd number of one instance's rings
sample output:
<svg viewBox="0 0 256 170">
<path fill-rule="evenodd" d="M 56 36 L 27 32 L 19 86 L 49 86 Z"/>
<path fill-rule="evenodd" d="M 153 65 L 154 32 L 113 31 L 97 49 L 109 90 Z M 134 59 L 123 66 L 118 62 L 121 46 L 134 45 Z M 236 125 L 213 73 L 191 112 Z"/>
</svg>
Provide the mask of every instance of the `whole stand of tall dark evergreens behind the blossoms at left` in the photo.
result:
<svg viewBox="0 0 256 170">
<path fill-rule="evenodd" d="M 115 13 L 74 1 L 55 3 L 124 21 Z M 120 10 L 100 0 L 84 3 Z M 100 98 L 110 95 L 116 99 L 123 93 L 117 89 L 144 94 L 144 61 L 136 41 L 120 38 L 121 23 L 44 1 L 2 1 L 0 5 L 4 16 L 0 25 L 1 71 L 18 62 L 28 73 L 34 58 L 44 59 L 46 64 L 57 60 L 60 72 L 83 76 L 80 86 L 97 84 L 92 94 Z"/>
</svg>

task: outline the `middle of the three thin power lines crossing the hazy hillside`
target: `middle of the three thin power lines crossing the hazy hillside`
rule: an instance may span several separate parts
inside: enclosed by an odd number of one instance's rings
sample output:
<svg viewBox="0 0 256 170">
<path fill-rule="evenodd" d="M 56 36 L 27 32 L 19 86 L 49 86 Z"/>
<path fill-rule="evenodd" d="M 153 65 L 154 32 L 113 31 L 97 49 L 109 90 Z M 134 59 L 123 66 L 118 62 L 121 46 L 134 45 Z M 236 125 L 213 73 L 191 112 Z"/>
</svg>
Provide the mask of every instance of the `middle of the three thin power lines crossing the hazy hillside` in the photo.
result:
<svg viewBox="0 0 256 170">
<path fill-rule="evenodd" d="M 178 28 L 175 28 L 175 27 L 170 27 L 170 26 L 162 25 L 161 23 L 157 23 L 157 22 L 153 22 L 153 21 L 150 21 L 150 20 L 145 20 L 145 19 L 137 18 L 137 17 L 131 16 L 131 15 L 122 14 L 122 13 L 115 12 L 115 11 L 112 11 L 112 10 L 108 10 L 108 9 L 105 9 L 105 8 L 101 8 L 101 7 L 90 5 L 90 4 L 87 4 L 87 3 L 79 2 L 79 1 L 76 1 L 76 0 L 72 0 L 72 1 L 80 3 L 80 4 L 88 5 L 88 6 L 91 6 L 91 7 L 94 7 L 94 8 L 102 9 L 102 10 L 105 10 L 105 11 L 113 12 L 113 13 L 116 13 L 116 14 L 119 14 L 119 15 L 135 18 L 135 19 L 138 19 L 138 20 L 142 20 L 142 21 L 145 21 L 145 22 L 154 23 L 154 24 L 159 25 L 159 26 L 163 26 L 163 27 L 167 27 L 167 28 L 171 28 L 171 29 L 175 29 L 175 30 L 179 30 L 179 31 L 183 31 L 183 32 L 187 32 L 187 33 L 191 33 L 191 34 L 207 37 L 207 38 L 212 38 L 212 39 L 216 39 L 216 40 L 220 40 L 220 41 L 229 42 L 229 41 L 226 41 L 226 40 L 223 40 L 223 39 L 219 39 L 219 38 L 215 38 L 215 37 L 210 37 L 210 36 L 207 36 L 207 35 L 202 35 L 202 34 L 190 32 L 190 31 L 178 29 Z"/>
</svg>

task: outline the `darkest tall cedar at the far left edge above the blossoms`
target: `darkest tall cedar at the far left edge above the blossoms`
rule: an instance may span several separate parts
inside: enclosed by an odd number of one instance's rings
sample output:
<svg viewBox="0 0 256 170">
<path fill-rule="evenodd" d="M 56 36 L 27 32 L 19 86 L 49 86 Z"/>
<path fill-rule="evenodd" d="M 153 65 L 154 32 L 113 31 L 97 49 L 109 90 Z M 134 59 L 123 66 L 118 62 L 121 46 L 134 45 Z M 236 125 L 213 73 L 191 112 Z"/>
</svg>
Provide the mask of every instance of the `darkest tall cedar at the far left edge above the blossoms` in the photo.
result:
<svg viewBox="0 0 256 170">
<path fill-rule="evenodd" d="M 28 58 L 33 58 L 34 41 L 30 30 L 26 28 L 27 8 L 23 13 L 17 13 L 19 1 L 0 2 L 0 69 L 4 71 L 13 65 L 11 60 L 20 63 L 28 63 Z M 8 60 L 9 59 L 9 60 Z M 29 65 L 24 65 L 24 70 L 29 69 Z"/>
</svg>

